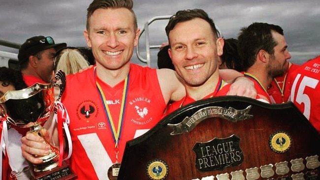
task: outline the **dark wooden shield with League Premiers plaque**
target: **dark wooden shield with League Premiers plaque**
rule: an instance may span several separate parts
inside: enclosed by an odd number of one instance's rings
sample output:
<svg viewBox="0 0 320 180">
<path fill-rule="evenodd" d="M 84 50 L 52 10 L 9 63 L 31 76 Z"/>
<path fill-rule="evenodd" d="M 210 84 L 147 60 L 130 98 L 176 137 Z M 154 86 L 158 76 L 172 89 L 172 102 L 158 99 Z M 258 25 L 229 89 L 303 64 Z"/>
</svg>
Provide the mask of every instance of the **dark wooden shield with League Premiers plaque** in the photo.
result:
<svg viewBox="0 0 320 180">
<path fill-rule="evenodd" d="M 320 135 L 292 103 L 215 97 L 127 143 L 118 180 L 318 180 Z"/>
</svg>

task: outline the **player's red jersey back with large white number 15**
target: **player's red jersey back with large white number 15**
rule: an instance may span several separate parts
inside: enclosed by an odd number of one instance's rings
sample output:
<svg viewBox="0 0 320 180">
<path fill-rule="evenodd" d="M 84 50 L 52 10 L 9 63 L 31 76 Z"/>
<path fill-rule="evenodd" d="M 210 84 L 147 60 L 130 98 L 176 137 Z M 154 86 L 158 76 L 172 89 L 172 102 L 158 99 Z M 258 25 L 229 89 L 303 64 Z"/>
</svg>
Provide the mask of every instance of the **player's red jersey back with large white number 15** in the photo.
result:
<svg viewBox="0 0 320 180">
<path fill-rule="evenodd" d="M 290 100 L 320 132 L 320 56 L 288 74 Z"/>
</svg>

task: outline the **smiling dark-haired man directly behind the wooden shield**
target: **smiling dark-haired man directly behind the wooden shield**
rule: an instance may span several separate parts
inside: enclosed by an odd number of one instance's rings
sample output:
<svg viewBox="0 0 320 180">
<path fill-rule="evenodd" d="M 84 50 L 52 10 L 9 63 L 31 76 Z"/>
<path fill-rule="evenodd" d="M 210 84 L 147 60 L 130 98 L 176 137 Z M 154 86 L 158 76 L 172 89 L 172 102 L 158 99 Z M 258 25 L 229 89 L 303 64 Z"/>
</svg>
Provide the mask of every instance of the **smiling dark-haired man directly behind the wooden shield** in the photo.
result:
<svg viewBox="0 0 320 180">
<path fill-rule="evenodd" d="M 202 9 L 178 11 L 165 31 L 169 56 L 187 91 L 185 97 L 169 105 L 166 114 L 200 99 L 226 95 L 229 86 L 224 87 L 218 71 L 224 39 L 218 37 L 208 14 Z"/>
</svg>

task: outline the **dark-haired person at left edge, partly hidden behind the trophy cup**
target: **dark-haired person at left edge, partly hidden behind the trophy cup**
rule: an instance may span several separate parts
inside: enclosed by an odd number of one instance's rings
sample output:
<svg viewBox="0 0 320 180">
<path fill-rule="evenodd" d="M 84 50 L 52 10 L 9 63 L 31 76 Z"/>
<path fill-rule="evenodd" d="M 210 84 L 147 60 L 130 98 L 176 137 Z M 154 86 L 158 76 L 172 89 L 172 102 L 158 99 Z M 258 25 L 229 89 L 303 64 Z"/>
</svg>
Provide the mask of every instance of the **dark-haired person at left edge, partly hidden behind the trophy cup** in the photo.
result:
<svg viewBox="0 0 320 180">
<path fill-rule="evenodd" d="M 27 88 L 27 85 L 23 81 L 23 77 L 20 71 L 9 69 L 7 67 L 0 67 L 0 98 L 8 90 L 22 90 Z M 2 109 L 0 108 L 0 132 L 2 132 Z M 29 172 L 29 164 L 22 156 L 21 152 L 21 138 L 26 135 L 29 128 L 20 128 L 14 125 L 10 125 L 8 129 L 8 144 L 5 145 L 5 154 L 3 153 L 3 147 L 1 144 L 2 152 L 2 180 L 29 180 L 31 175 Z M 0 133 L 0 139 L 2 133 Z M 1 140 L 2 142 L 2 140 Z"/>
</svg>

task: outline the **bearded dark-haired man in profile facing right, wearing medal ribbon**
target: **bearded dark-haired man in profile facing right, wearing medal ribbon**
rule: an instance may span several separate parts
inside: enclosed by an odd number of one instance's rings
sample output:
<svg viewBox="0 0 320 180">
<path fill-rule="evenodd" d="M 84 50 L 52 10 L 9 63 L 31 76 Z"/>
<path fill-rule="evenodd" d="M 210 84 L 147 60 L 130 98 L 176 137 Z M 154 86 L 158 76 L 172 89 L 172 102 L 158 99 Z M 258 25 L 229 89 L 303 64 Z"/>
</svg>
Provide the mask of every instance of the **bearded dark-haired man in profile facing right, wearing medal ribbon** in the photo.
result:
<svg viewBox="0 0 320 180">
<path fill-rule="evenodd" d="M 238 53 L 245 76 L 255 83 L 261 100 L 271 103 L 267 92 L 273 78 L 284 75 L 289 67 L 288 45 L 280 26 L 253 23 L 238 36 Z"/>
</svg>

